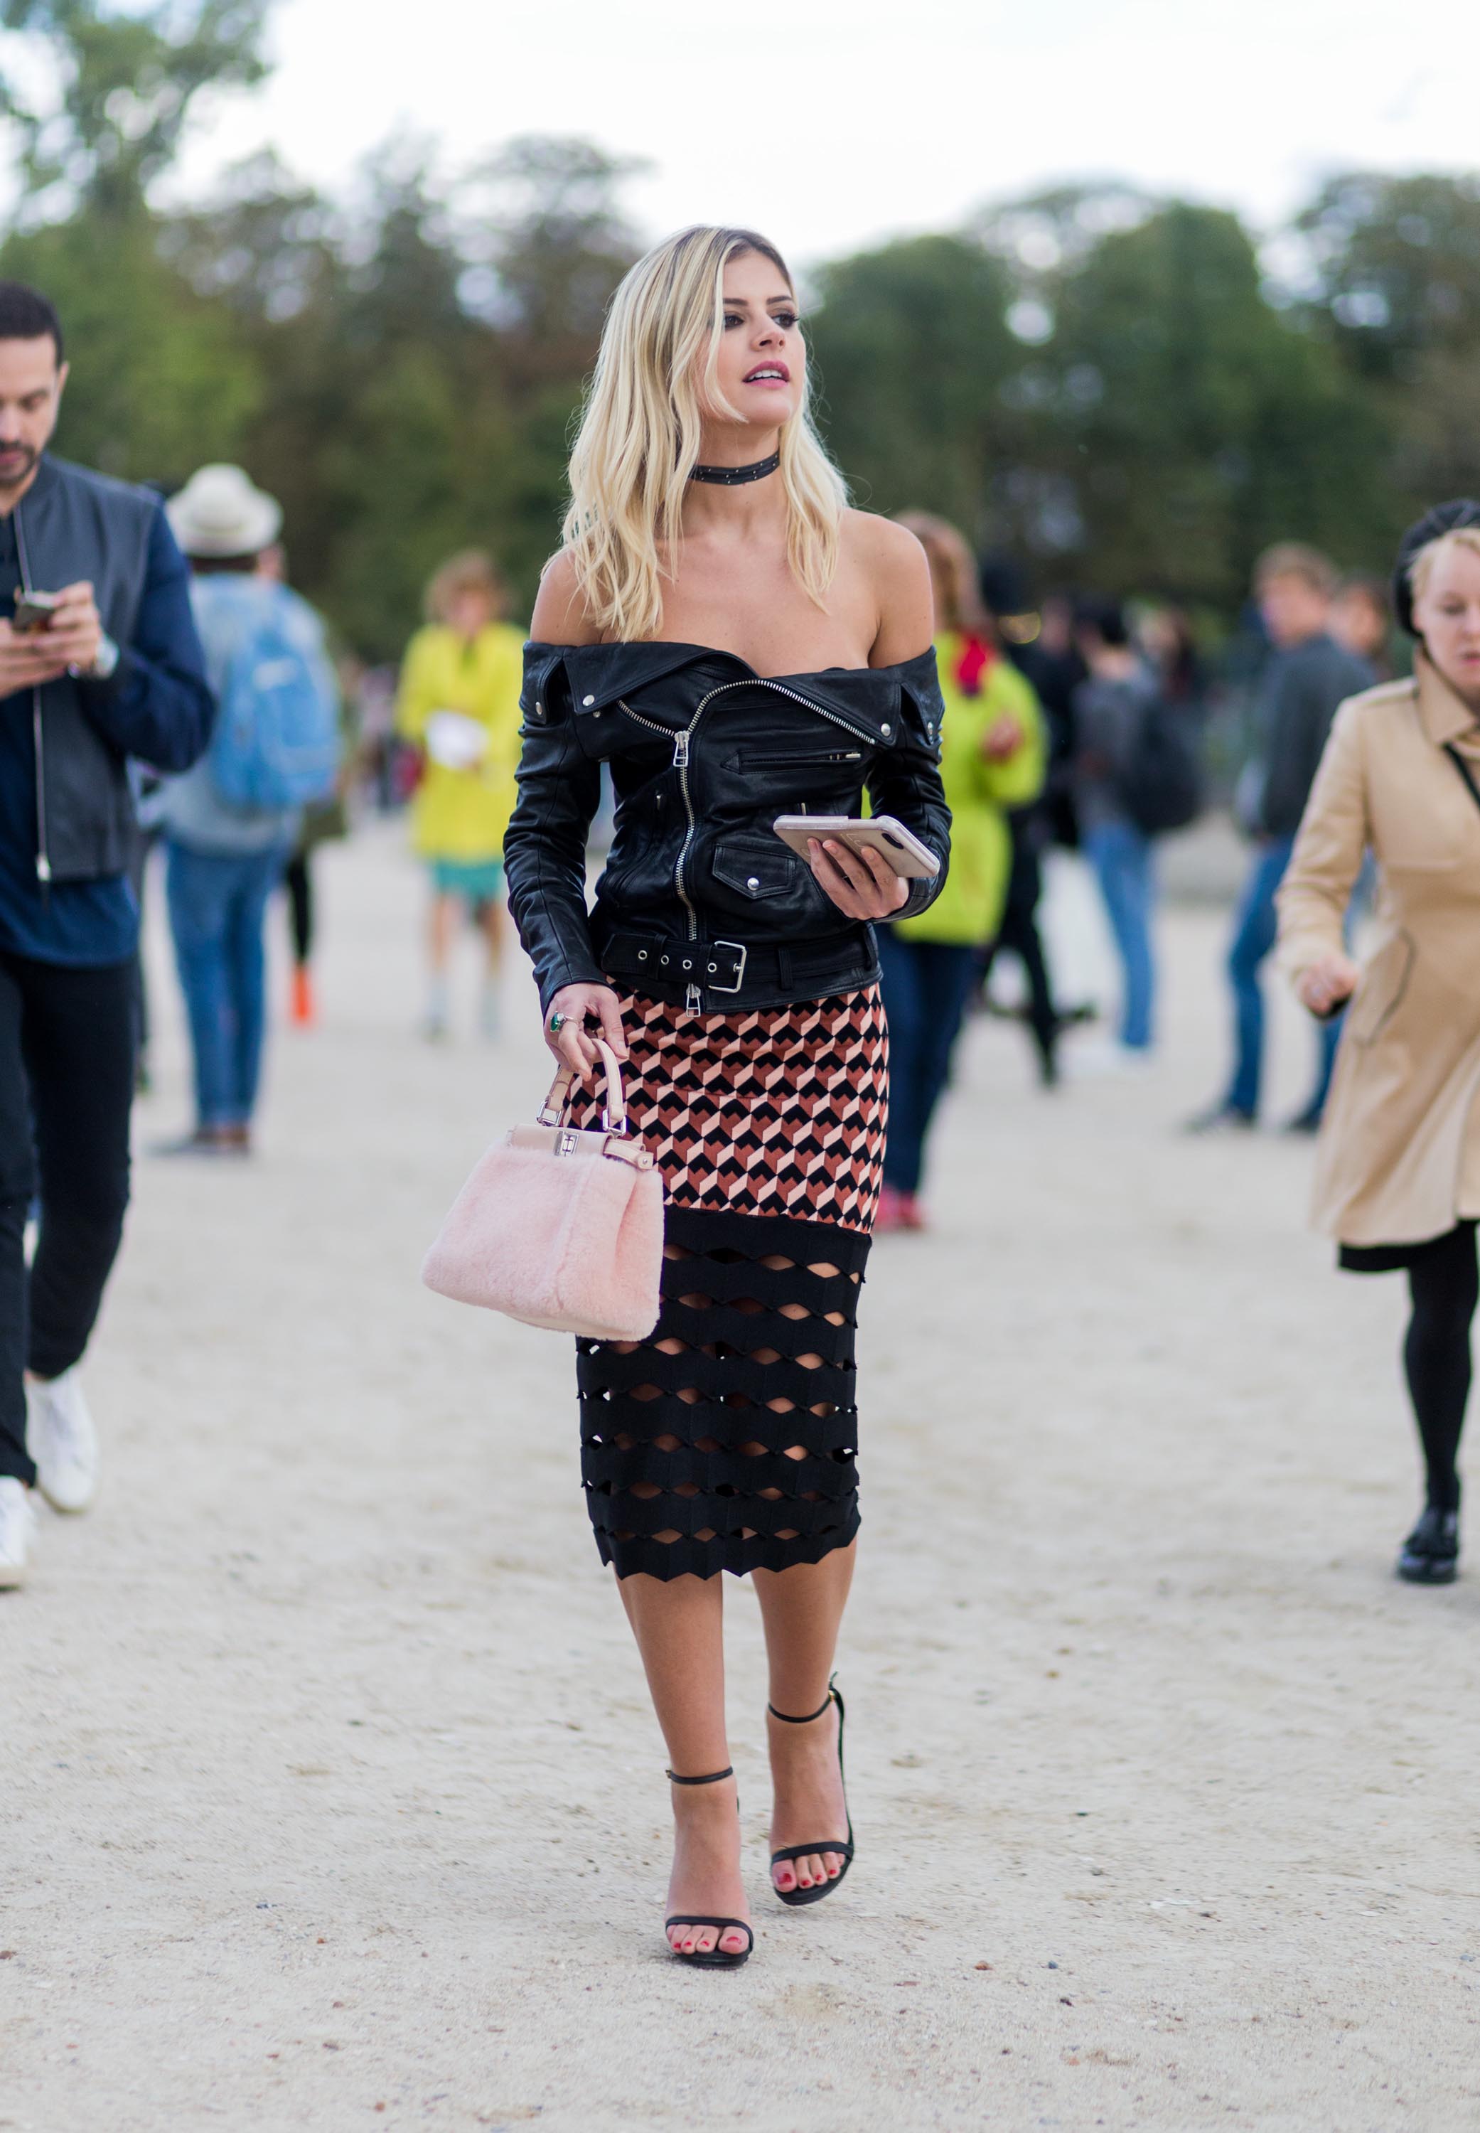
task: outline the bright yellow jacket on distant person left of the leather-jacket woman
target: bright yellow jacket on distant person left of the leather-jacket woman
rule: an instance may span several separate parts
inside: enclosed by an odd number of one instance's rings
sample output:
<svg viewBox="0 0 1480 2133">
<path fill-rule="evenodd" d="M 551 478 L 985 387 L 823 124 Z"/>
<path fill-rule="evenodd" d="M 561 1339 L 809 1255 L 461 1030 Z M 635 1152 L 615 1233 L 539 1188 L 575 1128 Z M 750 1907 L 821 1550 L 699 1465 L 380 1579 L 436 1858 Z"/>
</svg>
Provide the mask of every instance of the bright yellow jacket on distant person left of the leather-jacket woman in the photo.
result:
<svg viewBox="0 0 1480 2133">
<path fill-rule="evenodd" d="M 461 710 L 488 729 L 471 770 L 427 764 L 412 800 L 412 843 L 429 860 L 497 860 L 514 813 L 518 689 L 525 631 L 490 623 L 471 642 L 439 623 L 418 629 L 401 663 L 397 732 L 424 742 L 437 710 Z"/>
</svg>

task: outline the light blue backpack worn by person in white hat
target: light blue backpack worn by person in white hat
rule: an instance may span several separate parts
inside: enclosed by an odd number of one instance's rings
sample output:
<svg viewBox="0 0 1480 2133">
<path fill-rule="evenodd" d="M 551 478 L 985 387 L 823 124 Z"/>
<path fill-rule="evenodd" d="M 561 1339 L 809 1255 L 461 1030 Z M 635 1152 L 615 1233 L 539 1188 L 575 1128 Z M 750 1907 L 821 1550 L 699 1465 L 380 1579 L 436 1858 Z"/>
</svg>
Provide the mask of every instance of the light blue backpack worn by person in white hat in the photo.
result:
<svg viewBox="0 0 1480 2133">
<path fill-rule="evenodd" d="M 324 631 L 284 584 L 213 574 L 192 604 L 220 712 L 209 770 L 218 798 L 241 813 L 328 800 L 339 772 L 339 691 Z"/>
</svg>

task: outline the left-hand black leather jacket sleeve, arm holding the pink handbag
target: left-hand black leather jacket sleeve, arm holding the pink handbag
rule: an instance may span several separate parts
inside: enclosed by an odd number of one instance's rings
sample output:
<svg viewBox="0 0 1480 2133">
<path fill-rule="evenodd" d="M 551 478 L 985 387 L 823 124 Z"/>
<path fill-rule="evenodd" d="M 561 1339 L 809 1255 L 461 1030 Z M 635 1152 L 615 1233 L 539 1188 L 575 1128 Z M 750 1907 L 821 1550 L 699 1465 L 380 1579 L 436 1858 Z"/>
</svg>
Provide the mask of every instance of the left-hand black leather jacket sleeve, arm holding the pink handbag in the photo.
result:
<svg viewBox="0 0 1480 2133">
<path fill-rule="evenodd" d="M 518 802 L 503 836 L 503 868 L 544 1015 L 561 985 L 606 983 L 586 915 L 586 836 L 601 802 L 601 772 L 576 740 L 559 653 L 527 657 L 518 704 Z"/>
</svg>

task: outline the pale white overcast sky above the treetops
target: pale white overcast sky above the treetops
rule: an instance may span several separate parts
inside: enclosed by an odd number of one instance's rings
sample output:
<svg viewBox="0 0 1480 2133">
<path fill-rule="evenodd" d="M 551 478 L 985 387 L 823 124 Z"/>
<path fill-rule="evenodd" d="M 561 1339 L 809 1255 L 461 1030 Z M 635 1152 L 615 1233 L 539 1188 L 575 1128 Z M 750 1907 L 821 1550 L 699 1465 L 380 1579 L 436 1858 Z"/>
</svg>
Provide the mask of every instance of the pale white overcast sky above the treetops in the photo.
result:
<svg viewBox="0 0 1480 2133">
<path fill-rule="evenodd" d="M 186 183 L 264 143 L 343 186 L 405 128 L 644 156 L 644 230 L 759 224 L 800 260 L 983 198 L 1126 175 L 1269 226 L 1326 171 L 1480 162 L 1476 0 L 277 0 L 277 73 Z"/>
</svg>

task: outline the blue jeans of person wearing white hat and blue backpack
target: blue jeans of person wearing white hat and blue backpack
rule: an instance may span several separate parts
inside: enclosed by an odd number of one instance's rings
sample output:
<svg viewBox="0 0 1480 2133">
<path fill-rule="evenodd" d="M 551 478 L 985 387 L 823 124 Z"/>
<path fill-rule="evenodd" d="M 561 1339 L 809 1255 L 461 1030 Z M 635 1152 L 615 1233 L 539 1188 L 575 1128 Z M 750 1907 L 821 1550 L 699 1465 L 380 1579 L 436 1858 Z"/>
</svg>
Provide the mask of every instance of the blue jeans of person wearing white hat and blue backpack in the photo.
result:
<svg viewBox="0 0 1480 2133">
<path fill-rule="evenodd" d="M 213 853 L 168 845 L 164 887 L 196 1058 L 196 1124 L 245 1126 L 262 1069 L 262 921 L 286 845 Z"/>
</svg>

